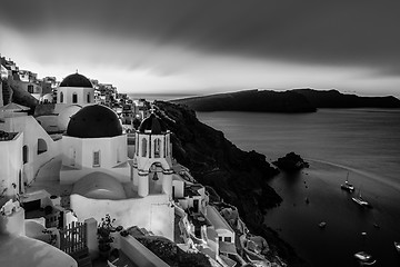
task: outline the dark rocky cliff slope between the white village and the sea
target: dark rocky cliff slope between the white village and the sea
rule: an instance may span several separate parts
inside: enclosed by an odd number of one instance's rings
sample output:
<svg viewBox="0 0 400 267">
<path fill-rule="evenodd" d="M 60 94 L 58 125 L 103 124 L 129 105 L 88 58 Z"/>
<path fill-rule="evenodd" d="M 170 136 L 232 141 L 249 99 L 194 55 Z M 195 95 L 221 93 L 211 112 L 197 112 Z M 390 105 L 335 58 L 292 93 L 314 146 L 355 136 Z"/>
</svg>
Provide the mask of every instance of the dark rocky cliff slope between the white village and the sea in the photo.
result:
<svg viewBox="0 0 400 267">
<path fill-rule="evenodd" d="M 218 131 L 196 118 L 180 105 L 157 101 L 157 111 L 172 135 L 173 157 L 187 166 L 201 184 L 211 186 L 227 201 L 238 207 L 249 227 L 259 227 L 266 208 L 281 198 L 267 185 L 279 171 L 266 156 L 246 152 Z"/>
</svg>

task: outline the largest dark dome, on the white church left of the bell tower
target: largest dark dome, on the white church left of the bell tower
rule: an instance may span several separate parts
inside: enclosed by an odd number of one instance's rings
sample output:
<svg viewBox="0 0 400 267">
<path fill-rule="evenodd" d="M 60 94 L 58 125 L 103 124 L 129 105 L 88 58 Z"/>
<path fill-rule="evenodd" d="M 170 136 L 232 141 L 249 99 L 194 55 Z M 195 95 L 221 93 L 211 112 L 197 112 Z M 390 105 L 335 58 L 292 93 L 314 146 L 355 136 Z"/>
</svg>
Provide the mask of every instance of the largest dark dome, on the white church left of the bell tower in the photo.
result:
<svg viewBox="0 0 400 267">
<path fill-rule="evenodd" d="M 114 111 L 106 106 L 91 105 L 71 117 L 67 135 L 79 138 L 116 137 L 122 135 L 122 126 Z"/>
</svg>

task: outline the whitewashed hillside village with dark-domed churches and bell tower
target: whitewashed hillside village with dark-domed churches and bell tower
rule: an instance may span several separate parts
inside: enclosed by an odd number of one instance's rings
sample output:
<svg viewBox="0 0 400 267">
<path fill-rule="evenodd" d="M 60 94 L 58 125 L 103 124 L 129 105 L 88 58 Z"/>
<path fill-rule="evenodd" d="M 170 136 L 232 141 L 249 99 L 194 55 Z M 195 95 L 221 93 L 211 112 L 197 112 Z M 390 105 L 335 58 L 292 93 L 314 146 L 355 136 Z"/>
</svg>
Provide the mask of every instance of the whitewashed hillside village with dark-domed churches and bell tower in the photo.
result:
<svg viewBox="0 0 400 267">
<path fill-rule="evenodd" d="M 286 266 L 173 158 L 157 102 L 6 58 L 0 82 L 0 266 Z"/>
</svg>

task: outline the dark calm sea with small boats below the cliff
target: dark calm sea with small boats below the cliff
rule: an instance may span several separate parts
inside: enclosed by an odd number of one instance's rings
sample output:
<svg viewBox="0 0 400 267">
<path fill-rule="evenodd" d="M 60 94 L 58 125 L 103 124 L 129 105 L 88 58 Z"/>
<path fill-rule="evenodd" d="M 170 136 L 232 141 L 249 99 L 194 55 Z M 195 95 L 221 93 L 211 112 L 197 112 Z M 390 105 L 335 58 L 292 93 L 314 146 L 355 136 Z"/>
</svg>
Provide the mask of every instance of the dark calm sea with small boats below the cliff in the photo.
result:
<svg viewBox="0 0 400 267">
<path fill-rule="evenodd" d="M 266 224 L 312 266 L 358 266 L 353 254 L 360 250 L 372 254 L 376 266 L 400 266 L 393 246 L 400 241 L 400 110 L 197 115 L 243 150 L 268 160 L 294 151 L 310 162 L 297 177 L 281 174 L 270 181 L 283 202 Z M 340 189 L 347 175 L 353 194 Z M 351 200 L 359 191 L 372 209 Z"/>
</svg>

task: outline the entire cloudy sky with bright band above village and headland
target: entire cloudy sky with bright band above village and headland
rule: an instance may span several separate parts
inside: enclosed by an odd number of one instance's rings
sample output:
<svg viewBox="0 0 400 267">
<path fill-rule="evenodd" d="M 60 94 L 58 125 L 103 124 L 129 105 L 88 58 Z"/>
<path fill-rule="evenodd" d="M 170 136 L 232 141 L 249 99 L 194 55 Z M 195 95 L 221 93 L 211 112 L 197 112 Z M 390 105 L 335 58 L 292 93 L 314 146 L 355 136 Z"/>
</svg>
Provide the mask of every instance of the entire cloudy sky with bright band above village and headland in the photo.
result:
<svg viewBox="0 0 400 267">
<path fill-rule="evenodd" d="M 400 1 L 0 0 L 0 53 L 120 92 L 336 88 L 400 97 Z"/>
</svg>

